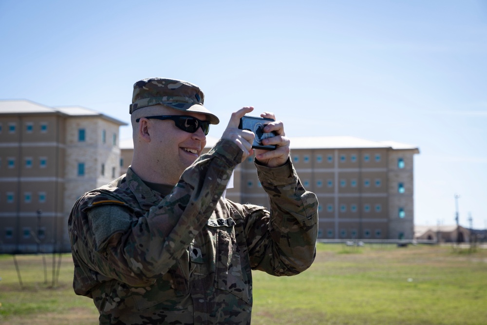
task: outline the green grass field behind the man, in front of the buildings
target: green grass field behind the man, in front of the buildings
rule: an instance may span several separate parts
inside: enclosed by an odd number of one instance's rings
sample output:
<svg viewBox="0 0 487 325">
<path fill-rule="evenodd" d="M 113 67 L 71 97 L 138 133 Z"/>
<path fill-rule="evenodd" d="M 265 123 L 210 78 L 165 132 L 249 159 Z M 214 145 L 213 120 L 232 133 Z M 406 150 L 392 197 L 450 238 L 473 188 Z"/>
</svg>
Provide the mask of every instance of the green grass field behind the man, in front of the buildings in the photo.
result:
<svg viewBox="0 0 487 325">
<path fill-rule="evenodd" d="M 42 255 L 17 256 L 20 287 L 13 257 L 0 255 L 0 324 L 97 324 L 92 301 L 72 291 L 71 255 L 55 287 L 45 259 L 47 283 Z M 256 325 L 487 324 L 487 249 L 318 244 L 306 272 L 253 277 Z"/>
</svg>

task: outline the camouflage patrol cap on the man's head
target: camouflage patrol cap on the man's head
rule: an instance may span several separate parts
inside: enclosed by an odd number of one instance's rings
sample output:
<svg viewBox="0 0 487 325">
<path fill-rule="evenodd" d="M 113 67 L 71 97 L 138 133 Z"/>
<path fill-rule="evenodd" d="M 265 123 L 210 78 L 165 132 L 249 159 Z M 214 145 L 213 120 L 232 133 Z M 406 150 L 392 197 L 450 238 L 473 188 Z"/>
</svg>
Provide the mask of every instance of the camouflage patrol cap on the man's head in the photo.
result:
<svg viewBox="0 0 487 325">
<path fill-rule="evenodd" d="M 218 117 L 203 106 L 204 100 L 203 91 L 192 83 L 168 78 L 147 78 L 133 84 L 130 114 L 139 108 L 161 104 L 178 111 L 205 114 L 211 124 L 220 123 Z"/>
</svg>

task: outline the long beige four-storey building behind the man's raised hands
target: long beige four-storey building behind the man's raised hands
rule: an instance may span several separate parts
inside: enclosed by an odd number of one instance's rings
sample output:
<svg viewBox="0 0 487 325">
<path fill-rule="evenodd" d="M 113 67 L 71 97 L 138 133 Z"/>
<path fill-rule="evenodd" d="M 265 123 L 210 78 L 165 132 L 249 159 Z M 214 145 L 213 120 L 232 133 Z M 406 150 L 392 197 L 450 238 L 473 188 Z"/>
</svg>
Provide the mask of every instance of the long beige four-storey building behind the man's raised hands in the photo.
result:
<svg viewBox="0 0 487 325">
<path fill-rule="evenodd" d="M 216 143 L 207 138 L 206 150 Z M 131 163 L 131 140 L 121 144 L 123 170 Z M 320 239 L 407 239 L 414 237 L 415 146 L 351 136 L 291 139 L 291 159 L 304 187 L 316 193 Z M 233 176 L 226 197 L 269 207 L 252 161 Z"/>
</svg>

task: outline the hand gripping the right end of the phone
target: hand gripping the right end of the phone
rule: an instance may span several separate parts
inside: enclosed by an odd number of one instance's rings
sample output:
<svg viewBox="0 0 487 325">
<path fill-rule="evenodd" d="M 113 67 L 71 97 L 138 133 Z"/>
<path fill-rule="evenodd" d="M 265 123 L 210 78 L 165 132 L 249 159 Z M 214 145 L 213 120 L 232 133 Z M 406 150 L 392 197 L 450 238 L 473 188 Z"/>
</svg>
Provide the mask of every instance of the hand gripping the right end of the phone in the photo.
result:
<svg viewBox="0 0 487 325">
<path fill-rule="evenodd" d="M 264 112 L 261 117 L 276 119 L 274 113 Z M 255 158 L 267 167 L 280 167 L 287 162 L 289 156 L 289 139 L 284 134 L 282 121 L 270 122 L 264 127 L 264 132 L 274 131 L 277 135 L 262 139 L 263 145 L 276 145 L 276 150 L 255 149 Z"/>
</svg>

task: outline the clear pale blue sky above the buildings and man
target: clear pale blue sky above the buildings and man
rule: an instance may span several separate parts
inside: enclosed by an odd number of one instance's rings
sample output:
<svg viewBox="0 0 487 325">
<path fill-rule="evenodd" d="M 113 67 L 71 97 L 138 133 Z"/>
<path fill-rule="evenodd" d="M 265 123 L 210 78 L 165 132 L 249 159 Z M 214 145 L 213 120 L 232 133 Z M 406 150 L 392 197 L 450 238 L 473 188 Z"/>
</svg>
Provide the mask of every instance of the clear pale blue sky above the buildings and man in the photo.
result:
<svg viewBox="0 0 487 325">
<path fill-rule="evenodd" d="M 417 145 L 415 222 L 487 227 L 487 2 L 0 0 L 0 98 L 129 122 L 135 81 L 193 82 L 287 135 Z M 121 138 L 130 137 L 128 127 Z"/>
</svg>

